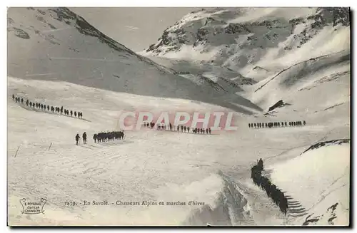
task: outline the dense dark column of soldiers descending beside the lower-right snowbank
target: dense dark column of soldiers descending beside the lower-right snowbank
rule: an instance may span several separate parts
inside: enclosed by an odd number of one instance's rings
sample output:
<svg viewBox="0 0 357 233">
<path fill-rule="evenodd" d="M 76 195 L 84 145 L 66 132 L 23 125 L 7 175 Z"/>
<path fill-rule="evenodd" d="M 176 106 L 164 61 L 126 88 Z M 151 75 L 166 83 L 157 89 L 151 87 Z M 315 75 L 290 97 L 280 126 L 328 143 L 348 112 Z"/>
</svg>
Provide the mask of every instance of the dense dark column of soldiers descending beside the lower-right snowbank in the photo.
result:
<svg viewBox="0 0 357 233">
<path fill-rule="evenodd" d="M 254 184 L 261 186 L 263 190 L 266 191 L 266 195 L 270 197 L 273 202 L 279 207 L 281 212 L 286 215 L 288 209 L 288 200 L 284 196 L 283 192 L 273 185 L 271 181 L 261 175 L 263 171 L 263 160 L 259 160 L 256 165 L 251 167 L 251 179 L 253 180 Z"/>
</svg>

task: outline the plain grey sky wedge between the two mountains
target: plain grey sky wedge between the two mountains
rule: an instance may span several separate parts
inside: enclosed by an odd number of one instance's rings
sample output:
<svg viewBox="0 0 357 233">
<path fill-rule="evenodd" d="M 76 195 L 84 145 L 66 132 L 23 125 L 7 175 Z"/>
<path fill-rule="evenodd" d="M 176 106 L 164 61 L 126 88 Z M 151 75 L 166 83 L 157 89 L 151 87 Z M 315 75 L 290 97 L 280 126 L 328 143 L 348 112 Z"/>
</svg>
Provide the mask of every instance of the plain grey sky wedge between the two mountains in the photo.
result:
<svg viewBox="0 0 357 233">
<path fill-rule="evenodd" d="M 89 24 L 135 52 L 156 43 L 169 26 L 202 7 L 69 7 Z"/>
</svg>

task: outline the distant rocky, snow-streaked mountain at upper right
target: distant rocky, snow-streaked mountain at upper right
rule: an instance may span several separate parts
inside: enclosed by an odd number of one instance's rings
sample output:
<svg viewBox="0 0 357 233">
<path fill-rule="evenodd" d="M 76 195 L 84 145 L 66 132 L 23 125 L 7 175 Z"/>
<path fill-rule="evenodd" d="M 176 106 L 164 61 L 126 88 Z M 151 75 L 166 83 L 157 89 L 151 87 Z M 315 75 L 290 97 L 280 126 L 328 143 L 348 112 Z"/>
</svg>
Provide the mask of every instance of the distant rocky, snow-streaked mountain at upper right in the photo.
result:
<svg viewBox="0 0 357 233">
<path fill-rule="evenodd" d="M 246 70 L 247 75 L 253 70 L 263 73 L 349 48 L 349 24 L 347 8 L 202 9 L 166 29 L 146 55 L 213 63 Z M 321 41 L 321 36 L 328 38 Z M 271 63 L 312 45 L 316 47 L 310 54 L 295 61 L 263 66 L 264 60 Z M 321 49 L 324 46 L 329 48 Z"/>
</svg>

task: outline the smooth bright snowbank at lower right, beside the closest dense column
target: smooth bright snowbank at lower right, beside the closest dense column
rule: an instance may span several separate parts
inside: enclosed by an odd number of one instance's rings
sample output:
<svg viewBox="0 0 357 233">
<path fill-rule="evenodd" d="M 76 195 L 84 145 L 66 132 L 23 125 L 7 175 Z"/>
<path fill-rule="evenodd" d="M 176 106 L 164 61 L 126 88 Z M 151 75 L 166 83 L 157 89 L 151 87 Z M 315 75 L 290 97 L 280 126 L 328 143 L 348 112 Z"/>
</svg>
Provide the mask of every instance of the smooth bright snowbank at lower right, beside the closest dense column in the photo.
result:
<svg viewBox="0 0 357 233">
<path fill-rule="evenodd" d="M 350 147 L 349 140 L 331 140 L 270 167 L 272 182 L 286 191 L 285 195 L 298 200 L 299 209 L 306 213 L 297 217 L 292 214 L 291 222 L 320 226 L 349 224 Z M 294 212 L 298 206 L 290 204 L 289 209 Z"/>
</svg>

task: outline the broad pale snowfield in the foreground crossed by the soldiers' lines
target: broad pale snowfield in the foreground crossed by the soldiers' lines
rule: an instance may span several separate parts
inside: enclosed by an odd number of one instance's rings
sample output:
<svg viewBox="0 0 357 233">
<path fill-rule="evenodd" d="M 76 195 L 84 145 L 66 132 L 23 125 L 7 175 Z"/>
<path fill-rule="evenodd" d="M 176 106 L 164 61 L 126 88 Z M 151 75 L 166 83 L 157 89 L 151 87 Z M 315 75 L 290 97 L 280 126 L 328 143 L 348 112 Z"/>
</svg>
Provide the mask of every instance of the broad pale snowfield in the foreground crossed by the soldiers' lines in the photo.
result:
<svg viewBox="0 0 357 233">
<path fill-rule="evenodd" d="M 302 224 L 288 222 L 265 192 L 253 187 L 251 163 L 262 157 L 264 161 L 276 164 L 286 160 L 286 153 L 290 158 L 298 156 L 303 151 L 301 148 L 311 145 L 311 142 L 349 138 L 349 126 L 345 125 L 348 119 L 343 118 L 345 111 L 340 110 L 330 114 L 335 119 L 333 121 L 308 123 L 303 128 L 253 130 L 246 125 L 252 119 L 241 116 L 236 120 L 239 130 L 231 133 L 195 135 L 140 130 L 126 132 L 126 139 L 120 142 L 94 143 L 90 139 L 94 133 L 117 129 L 121 110 L 141 109 L 143 106 L 156 109 L 159 105 L 163 110 L 196 108 L 206 111 L 217 106 L 176 98 L 115 93 L 66 82 L 11 77 L 9 93 L 47 105 L 60 104 L 80 110 L 85 118 L 79 120 L 29 110 L 9 97 L 11 225 Z M 286 115 L 285 118 L 294 119 L 296 115 Z M 88 145 L 76 146 L 74 135 L 84 131 L 89 135 Z M 296 148 L 300 149 L 299 153 Z M 339 153 L 347 156 L 347 152 Z M 298 172 L 289 175 L 293 177 L 300 174 Z M 343 191 L 341 197 L 347 191 Z M 296 195 L 294 198 L 298 200 L 300 196 Z M 21 214 L 19 200 L 24 197 L 29 200 L 45 198 L 45 214 Z M 68 207 L 64 203 L 83 203 L 84 200 L 106 200 L 114 204 Z M 117 200 L 196 201 L 205 204 L 185 207 L 117 206 Z M 330 202 L 327 205 L 323 208 L 330 207 Z"/>
</svg>

